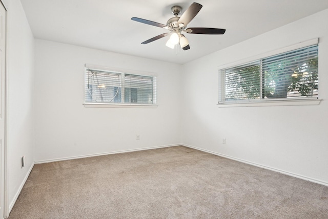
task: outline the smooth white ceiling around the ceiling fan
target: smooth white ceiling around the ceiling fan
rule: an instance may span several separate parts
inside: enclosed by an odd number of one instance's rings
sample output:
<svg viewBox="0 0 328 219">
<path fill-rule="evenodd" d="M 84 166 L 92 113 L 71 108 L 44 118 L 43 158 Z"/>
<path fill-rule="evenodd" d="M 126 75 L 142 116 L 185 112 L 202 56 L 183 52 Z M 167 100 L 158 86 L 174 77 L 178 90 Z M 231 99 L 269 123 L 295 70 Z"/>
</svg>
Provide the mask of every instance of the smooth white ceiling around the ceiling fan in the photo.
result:
<svg viewBox="0 0 328 219">
<path fill-rule="evenodd" d="M 189 50 L 170 49 L 168 32 L 131 21 L 136 16 L 166 24 L 181 0 L 20 0 L 35 38 L 124 53 L 172 63 L 187 63 L 328 8 L 327 0 L 197 0 L 203 5 L 188 27 L 227 29 L 223 35 L 188 34 Z M 180 14 L 181 15 L 181 14 Z"/>
</svg>

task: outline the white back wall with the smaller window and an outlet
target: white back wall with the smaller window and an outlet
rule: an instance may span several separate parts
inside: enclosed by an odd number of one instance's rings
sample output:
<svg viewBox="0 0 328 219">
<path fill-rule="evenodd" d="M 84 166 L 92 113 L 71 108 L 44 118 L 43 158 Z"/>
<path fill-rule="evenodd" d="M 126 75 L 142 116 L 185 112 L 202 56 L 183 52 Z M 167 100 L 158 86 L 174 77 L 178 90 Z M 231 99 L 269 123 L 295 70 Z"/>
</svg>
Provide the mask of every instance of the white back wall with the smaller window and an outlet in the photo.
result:
<svg viewBox="0 0 328 219">
<path fill-rule="evenodd" d="M 35 44 L 36 162 L 181 143 L 180 65 L 40 39 Z M 158 107 L 84 107 L 85 63 L 157 73 Z"/>
</svg>

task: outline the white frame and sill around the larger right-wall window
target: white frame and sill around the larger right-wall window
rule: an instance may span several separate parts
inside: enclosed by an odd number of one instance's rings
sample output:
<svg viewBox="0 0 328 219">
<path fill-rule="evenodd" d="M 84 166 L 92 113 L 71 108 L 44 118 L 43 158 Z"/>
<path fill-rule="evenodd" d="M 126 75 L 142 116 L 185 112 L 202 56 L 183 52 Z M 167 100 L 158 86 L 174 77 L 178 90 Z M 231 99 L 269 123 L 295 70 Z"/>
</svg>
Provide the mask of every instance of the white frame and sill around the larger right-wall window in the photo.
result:
<svg viewBox="0 0 328 219">
<path fill-rule="evenodd" d="M 219 99 L 218 99 L 218 107 L 263 107 L 263 106 L 297 106 L 297 105 L 319 105 L 321 99 L 317 97 L 302 97 L 302 98 L 275 98 L 275 99 L 245 99 L 245 100 L 237 100 L 237 101 L 222 101 L 225 94 L 225 78 L 221 74 L 221 69 L 231 68 L 234 66 L 242 65 L 245 63 L 251 63 L 258 59 L 262 59 L 264 57 L 269 57 L 273 55 L 277 55 L 284 52 L 289 52 L 292 50 L 300 49 L 303 47 L 311 46 L 318 44 L 318 38 L 310 39 L 309 41 L 301 42 L 292 46 L 284 47 L 278 50 L 270 51 L 267 53 L 263 53 L 257 56 L 253 56 L 250 58 L 242 59 L 240 61 L 219 66 Z"/>
</svg>

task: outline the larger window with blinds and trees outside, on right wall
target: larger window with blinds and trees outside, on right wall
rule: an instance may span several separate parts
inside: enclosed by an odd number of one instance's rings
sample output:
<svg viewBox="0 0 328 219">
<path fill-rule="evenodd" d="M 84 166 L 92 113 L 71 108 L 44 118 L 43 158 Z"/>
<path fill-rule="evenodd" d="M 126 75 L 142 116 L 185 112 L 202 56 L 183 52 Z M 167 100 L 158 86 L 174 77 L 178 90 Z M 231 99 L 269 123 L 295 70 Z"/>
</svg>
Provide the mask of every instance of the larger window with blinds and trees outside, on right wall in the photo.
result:
<svg viewBox="0 0 328 219">
<path fill-rule="evenodd" d="M 220 70 L 220 103 L 318 99 L 318 45 Z"/>
</svg>

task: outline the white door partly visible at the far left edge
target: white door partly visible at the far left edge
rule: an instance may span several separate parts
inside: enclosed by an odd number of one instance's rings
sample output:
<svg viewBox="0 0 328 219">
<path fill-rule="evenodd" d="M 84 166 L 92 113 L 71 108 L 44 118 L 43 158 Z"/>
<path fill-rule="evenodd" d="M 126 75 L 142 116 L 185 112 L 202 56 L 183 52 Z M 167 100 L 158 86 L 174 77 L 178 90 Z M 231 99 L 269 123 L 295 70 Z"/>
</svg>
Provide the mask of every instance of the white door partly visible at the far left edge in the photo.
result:
<svg viewBox="0 0 328 219">
<path fill-rule="evenodd" d="M 6 9 L 0 3 L 0 218 L 5 207 Z"/>
</svg>

